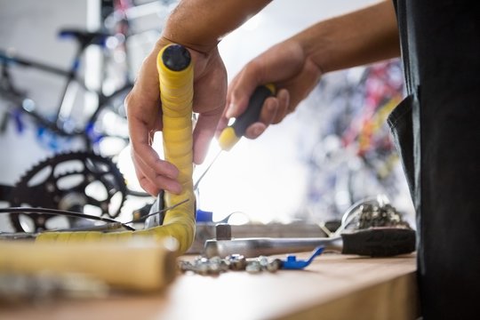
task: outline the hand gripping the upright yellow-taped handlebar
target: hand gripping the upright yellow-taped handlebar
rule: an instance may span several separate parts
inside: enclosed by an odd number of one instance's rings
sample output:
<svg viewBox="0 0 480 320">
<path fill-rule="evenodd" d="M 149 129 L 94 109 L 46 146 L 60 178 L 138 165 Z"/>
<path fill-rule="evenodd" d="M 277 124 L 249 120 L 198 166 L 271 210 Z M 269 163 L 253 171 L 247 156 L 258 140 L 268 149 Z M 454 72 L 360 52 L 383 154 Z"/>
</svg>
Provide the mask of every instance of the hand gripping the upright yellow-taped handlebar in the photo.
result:
<svg viewBox="0 0 480 320">
<path fill-rule="evenodd" d="M 140 186 L 152 196 L 161 189 L 175 194 L 181 191 L 176 180 L 178 169 L 162 160 L 151 147 L 154 133 L 163 127 L 156 56 L 166 44 L 167 40 L 159 40 L 143 61 L 132 92 L 125 100 L 135 172 Z M 216 47 L 206 53 L 189 52 L 194 63 L 193 110 L 198 113 L 193 132 L 194 162 L 201 164 L 225 107 L 227 72 Z"/>
</svg>

